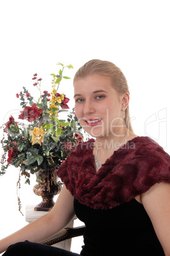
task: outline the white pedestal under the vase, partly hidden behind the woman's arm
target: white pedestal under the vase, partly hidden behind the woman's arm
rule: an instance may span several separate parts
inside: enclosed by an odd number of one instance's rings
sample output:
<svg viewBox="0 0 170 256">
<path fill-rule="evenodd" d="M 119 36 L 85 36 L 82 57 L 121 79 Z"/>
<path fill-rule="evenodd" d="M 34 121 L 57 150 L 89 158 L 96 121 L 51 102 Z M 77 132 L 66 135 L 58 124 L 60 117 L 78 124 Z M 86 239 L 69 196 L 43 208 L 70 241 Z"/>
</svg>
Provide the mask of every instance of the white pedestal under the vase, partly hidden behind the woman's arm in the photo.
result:
<svg viewBox="0 0 170 256">
<path fill-rule="evenodd" d="M 45 215 L 48 213 L 48 211 L 34 211 L 34 205 L 32 204 L 27 204 L 25 207 L 25 220 L 26 222 L 31 223 L 32 221 L 36 220 L 37 218 Z M 74 219 L 69 222 L 67 227 L 73 227 L 74 224 Z M 71 248 L 71 239 L 67 239 L 65 241 L 61 241 L 60 243 L 57 243 L 55 245 L 52 245 L 58 248 L 62 248 L 64 250 L 70 251 Z"/>
</svg>

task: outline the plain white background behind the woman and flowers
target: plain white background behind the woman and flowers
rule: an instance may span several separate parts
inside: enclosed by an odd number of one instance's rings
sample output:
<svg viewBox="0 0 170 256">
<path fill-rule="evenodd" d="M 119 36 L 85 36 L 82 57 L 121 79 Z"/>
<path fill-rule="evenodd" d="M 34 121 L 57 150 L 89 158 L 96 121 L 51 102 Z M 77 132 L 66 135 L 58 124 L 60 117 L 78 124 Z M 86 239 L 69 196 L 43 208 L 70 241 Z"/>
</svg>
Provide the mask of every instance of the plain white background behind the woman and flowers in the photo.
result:
<svg viewBox="0 0 170 256">
<path fill-rule="evenodd" d="M 170 153 L 169 1 L 6 0 L 0 2 L 0 24 L 0 125 L 22 110 L 15 95 L 23 86 L 38 99 L 34 73 L 43 78 L 42 90 L 50 92 L 57 62 L 73 64 L 64 73 L 73 78 L 90 59 L 110 60 L 129 83 L 134 132 L 152 137 Z M 62 82 L 59 89 L 71 99 L 71 107 L 72 81 Z M 26 224 L 17 209 L 17 180 L 15 167 L 0 177 L 0 239 Z M 24 214 L 26 204 L 39 203 L 34 184 L 34 176 L 30 186 L 22 182 Z M 80 247 L 81 242 L 72 250 L 80 252 Z"/>
</svg>

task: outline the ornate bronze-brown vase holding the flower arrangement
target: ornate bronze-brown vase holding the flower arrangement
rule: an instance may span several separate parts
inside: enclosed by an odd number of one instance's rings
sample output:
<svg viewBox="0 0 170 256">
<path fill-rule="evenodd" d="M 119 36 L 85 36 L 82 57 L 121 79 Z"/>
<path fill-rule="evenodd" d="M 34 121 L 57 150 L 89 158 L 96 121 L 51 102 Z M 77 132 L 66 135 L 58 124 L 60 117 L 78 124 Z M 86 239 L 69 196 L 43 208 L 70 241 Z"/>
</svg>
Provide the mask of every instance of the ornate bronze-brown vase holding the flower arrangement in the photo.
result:
<svg viewBox="0 0 170 256">
<path fill-rule="evenodd" d="M 48 169 L 48 171 L 38 171 L 36 176 L 38 184 L 33 187 L 33 191 L 34 194 L 42 197 L 42 201 L 34 208 L 34 210 L 50 211 L 55 204 L 53 197 L 60 193 L 61 184 L 57 182 L 58 178 L 53 169 Z"/>
</svg>

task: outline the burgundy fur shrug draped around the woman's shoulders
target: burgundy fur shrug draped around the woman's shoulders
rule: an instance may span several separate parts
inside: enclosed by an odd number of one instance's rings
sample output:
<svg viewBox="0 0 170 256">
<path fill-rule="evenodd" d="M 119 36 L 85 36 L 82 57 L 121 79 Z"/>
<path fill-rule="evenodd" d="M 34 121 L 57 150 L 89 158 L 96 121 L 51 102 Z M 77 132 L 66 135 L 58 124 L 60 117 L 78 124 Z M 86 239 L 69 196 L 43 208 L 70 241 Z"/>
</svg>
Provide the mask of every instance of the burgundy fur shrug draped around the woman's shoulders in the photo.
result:
<svg viewBox="0 0 170 256">
<path fill-rule="evenodd" d="M 73 148 L 57 175 L 74 198 L 94 209 L 114 208 L 170 182 L 170 156 L 148 137 L 136 137 L 119 148 L 96 173 L 94 139 Z"/>
</svg>

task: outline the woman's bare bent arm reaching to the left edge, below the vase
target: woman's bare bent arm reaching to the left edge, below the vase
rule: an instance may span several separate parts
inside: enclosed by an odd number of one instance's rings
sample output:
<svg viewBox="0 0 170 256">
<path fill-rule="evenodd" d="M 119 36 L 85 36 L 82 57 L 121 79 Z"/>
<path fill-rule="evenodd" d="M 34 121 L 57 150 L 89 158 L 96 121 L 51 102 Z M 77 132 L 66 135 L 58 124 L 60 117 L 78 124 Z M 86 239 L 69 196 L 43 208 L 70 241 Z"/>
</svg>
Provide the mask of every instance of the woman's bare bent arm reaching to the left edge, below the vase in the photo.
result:
<svg viewBox="0 0 170 256">
<path fill-rule="evenodd" d="M 66 227 L 73 217 L 73 197 L 64 186 L 49 213 L 0 241 L 0 253 L 18 241 L 44 241 Z"/>
</svg>

